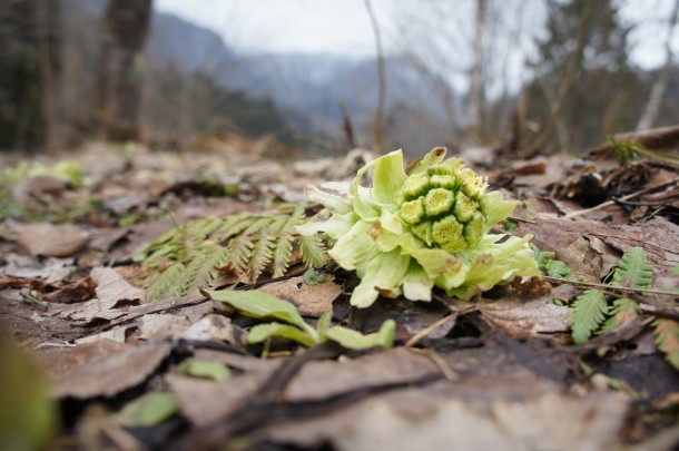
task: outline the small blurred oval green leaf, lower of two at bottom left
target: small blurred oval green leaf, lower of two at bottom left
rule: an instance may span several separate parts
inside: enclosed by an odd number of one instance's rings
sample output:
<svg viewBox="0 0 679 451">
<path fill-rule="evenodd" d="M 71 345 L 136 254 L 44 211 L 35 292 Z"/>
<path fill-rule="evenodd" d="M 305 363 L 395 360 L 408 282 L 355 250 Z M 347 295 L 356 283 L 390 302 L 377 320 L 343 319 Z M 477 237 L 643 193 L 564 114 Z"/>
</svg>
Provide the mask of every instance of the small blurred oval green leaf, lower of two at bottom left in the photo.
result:
<svg viewBox="0 0 679 451">
<path fill-rule="evenodd" d="M 116 419 L 128 428 L 151 428 L 179 411 L 179 402 L 171 393 L 150 392 L 128 402 Z"/>
</svg>

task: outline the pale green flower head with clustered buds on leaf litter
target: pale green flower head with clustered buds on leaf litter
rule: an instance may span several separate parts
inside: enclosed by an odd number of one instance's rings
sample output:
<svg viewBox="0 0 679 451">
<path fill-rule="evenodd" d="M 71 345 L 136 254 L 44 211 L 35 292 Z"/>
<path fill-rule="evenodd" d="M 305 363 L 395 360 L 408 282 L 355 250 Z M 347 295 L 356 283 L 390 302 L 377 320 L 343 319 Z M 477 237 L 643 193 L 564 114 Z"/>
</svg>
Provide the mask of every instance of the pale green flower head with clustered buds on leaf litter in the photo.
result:
<svg viewBox="0 0 679 451">
<path fill-rule="evenodd" d="M 366 164 L 352 183 L 308 187 L 309 199 L 327 212 L 297 231 L 336 241 L 329 256 L 361 278 L 352 305 L 367 307 L 380 294 L 431 301 L 434 285 L 470 298 L 539 274 L 530 235 L 489 233 L 515 204 L 500 192 L 486 193 L 485 180 L 460 158 L 444 157 L 437 147 L 406 174 L 403 154 L 395 150 Z M 371 168 L 373 185 L 363 187 Z"/>
</svg>

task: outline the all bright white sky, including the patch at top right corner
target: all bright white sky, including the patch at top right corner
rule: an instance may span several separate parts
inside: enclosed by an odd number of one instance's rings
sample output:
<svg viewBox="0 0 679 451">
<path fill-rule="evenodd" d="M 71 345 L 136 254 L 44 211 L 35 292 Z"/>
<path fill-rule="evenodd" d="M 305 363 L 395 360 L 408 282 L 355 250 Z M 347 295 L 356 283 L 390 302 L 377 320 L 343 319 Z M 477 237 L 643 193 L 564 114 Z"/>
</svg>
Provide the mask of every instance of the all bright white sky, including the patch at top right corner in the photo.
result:
<svg viewBox="0 0 679 451">
<path fill-rule="evenodd" d="M 395 32 L 390 12 L 416 1 L 422 0 L 373 0 L 382 32 Z M 659 24 L 658 18 L 667 18 L 675 1 L 626 2 L 623 18 L 646 23 L 632 33 L 632 58 L 644 68 L 662 62 L 667 27 Z M 160 11 L 217 31 L 236 50 L 353 56 L 375 52 L 364 0 L 156 0 L 155 4 Z M 388 38 L 385 41 L 388 45 Z M 679 50 L 679 32 L 672 42 Z"/>
</svg>

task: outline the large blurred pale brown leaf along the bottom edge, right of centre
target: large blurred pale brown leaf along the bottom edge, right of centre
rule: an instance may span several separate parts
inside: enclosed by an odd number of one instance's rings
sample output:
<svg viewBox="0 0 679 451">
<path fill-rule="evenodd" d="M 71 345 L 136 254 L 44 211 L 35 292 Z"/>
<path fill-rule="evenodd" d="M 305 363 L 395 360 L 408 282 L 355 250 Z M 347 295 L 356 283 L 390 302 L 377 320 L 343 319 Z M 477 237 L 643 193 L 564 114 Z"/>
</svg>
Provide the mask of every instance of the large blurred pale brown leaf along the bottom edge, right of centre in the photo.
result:
<svg viewBox="0 0 679 451">
<path fill-rule="evenodd" d="M 613 393 L 578 398 L 532 378 L 480 376 L 371 396 L 325 416 L 277 424 L 264 437 L 301 447 L 329 441 L 352 451 L 599 450 L 620 443 L 627 408 Z"/>
</svg>

